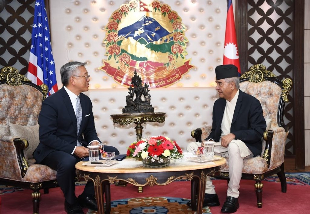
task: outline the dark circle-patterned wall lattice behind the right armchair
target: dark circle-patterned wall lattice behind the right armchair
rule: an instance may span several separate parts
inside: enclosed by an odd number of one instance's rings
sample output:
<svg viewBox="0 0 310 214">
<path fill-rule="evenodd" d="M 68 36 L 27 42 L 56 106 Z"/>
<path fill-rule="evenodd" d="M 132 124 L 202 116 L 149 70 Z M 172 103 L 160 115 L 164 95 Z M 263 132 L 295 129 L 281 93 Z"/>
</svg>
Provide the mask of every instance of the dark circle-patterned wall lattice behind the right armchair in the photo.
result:
<svg viewBox="0 0 310 214">
<path fill-rule="evenodd" d="M 293 71 L 292 0 L 248 1 L 248 67 L 263 64 L 279 79 L 292 79 Z M 284 121 L 289 127 L 285 153 L 294 154 L 293 90 L 289 93 Z"/>
</svg>

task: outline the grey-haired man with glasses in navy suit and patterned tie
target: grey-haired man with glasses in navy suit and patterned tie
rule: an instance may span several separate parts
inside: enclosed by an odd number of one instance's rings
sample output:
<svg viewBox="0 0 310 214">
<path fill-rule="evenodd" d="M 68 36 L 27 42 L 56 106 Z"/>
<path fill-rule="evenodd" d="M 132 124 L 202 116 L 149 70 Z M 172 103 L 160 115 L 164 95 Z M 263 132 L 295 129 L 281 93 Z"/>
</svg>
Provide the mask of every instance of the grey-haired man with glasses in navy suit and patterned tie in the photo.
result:
<svg viewBox="0 0 310 214">
<path fill-rule="evenodd" d="M 94 183 L 87 182 L 76 197 L 74 190 L 75 164 L 88 156 L 91 142 L 101 143 L 95 129 L 91 100 L 82 92 L 88 91 L 89 76 L 86 63 L 68 62 L 60 68 L 63 88 L 42 103 L 38 123 L 40 143 L 33 156 L 37 164 L 57 171 L 57 182 L 64 193 L 67 213 L 84 213 L 81 207 L 98 210 L 94 198 Z M 105 152 L 118 150 L 104 146 Z"/>
</svg>

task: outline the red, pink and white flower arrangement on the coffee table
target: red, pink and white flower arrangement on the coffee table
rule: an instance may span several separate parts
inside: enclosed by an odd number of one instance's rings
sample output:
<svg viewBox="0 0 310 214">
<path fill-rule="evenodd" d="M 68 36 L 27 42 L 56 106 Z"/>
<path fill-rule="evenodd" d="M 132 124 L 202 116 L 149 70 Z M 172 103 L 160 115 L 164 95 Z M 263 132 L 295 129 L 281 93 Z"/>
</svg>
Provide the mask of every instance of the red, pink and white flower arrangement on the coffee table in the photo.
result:
<svg viewBox="0 0 310 214">
<path fill-rule="evenodd" d="M 126 156 L 142 161 L 145 167 L 164 167 L 170 159 L 182 158 L 183 152 L 175 141 L 158 136 L 131 143 Z"/>
</svg>

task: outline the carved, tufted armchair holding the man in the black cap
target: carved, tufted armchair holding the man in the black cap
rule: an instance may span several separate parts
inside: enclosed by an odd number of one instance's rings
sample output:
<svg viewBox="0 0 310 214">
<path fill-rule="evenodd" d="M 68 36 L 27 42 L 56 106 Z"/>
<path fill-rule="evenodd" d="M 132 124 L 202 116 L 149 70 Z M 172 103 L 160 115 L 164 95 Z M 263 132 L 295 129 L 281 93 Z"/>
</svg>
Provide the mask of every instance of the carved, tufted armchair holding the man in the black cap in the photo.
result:
<svg viewBox="0 0 310 214">
<path fill-rule="evenodd" d="M 263 115 L 267 123 L 263 133 L 262 153 L 259 157 L 245 159 L 243 162 L 242 179 L 254 180 L 257 206 L 262 207 L 262 180 L 275 173 L 281 181 L 281 191 L 286 192 L 286 178 L 284 174 L 284 148 L 288 127 L 283 122 L 285 102 L 292 86 L 291 79 L 283 81 L 267 71 L 264 65 L 254 65 L 250 71 L 240 77 L 240 89 L 256 97 L 263 108 Z M 205 126 L 193 130 L 191 135 L 196 142 L 206 139 L 212 126 Z M 229 162 L 221 166 L 221 174 L 215 178 L 227 179 Z M 268 190 L 267 190 L 268 191 Z M 272 193 L 271 193 L 272 194 Z"/>
</svg>

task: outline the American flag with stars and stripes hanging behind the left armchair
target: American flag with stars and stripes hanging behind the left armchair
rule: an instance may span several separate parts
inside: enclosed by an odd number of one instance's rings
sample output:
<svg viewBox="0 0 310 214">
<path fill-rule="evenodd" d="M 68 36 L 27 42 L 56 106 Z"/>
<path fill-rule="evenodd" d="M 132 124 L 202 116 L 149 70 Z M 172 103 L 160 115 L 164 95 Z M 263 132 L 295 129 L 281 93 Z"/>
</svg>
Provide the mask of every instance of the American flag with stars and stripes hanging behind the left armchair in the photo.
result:
<svg viewBox="0 0 310 214">
<path fill-rule="evenodd" d="M 58 91 L 44 0 L 37 0 L 34 8 L 27 78 L 37 85 L 47 84 L 48 96 Z"/>
</svg>

